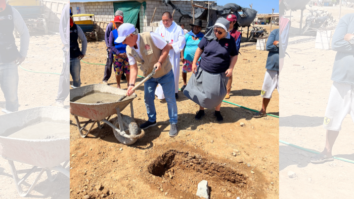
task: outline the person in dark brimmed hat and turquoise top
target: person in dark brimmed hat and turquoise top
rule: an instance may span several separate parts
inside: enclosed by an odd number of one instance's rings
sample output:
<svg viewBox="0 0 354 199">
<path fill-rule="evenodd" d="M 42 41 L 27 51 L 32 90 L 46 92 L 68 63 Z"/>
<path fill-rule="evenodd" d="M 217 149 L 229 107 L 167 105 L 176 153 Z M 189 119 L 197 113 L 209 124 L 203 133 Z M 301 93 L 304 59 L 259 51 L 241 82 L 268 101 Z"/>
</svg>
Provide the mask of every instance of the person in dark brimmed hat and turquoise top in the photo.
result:
<svg viewBox="0 0 354 199">
<path fill-rule="evenodd" d="M 187 86 L 187 73 L 192 72 L 192 62 L 194 59 L 195 51 L 198 48 L 200 40 L 204 37 L 204 34 L 200 31 L 202 30 L 202 20 L 196 20 L 194 24 L 189 24 L 192 26 L 192 30 L 186 34 L 186 45 L 181 51 L 181 61 L 183 62 L 182 68 L 182 78 L 183 87 L 181 91 L 183 92 Z M 200 58 L 197 62 L 197 67 L 199 66 Z"/>
</svg>

